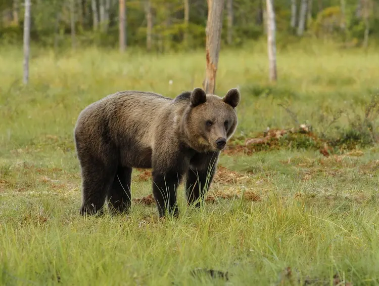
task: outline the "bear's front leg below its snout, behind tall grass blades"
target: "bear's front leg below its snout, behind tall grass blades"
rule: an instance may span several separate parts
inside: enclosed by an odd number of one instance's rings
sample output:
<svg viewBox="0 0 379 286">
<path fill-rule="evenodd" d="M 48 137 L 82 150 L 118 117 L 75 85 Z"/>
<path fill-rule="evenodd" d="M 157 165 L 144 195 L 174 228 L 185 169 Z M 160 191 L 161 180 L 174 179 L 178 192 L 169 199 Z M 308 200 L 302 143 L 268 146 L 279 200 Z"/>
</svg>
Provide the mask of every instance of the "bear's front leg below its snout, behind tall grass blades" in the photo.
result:
<svg viewBox="0 0 379 286">
<path fill-rule="evenodd" d="M 189 206 L 194 205 L 199 208 L 204 201 L 216 172 L 218 155 L 218 152 L 199 153 L 191 160 L 185 182 L 185 194 Z"/>
</svg>

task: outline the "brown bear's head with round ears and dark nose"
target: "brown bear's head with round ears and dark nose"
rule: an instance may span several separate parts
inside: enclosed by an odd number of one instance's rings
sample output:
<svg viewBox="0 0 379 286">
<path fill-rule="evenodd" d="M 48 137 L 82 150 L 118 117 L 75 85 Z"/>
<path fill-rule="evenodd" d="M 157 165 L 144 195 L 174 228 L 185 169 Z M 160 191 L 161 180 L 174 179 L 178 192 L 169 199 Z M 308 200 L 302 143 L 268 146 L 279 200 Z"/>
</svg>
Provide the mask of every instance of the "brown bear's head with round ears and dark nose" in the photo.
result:
<svg viewBox="0 0 379 286">
<path fill-rule="evenodd" d="M 198 152 L 224 149 L 238 124 L 234 108 L 239 104 L 240 97 L 238 89 L 230 89 L 222 98 L 207 95 L 201 88 L 194 89 L 183 118 L 189 145 Z"/>
</svg>

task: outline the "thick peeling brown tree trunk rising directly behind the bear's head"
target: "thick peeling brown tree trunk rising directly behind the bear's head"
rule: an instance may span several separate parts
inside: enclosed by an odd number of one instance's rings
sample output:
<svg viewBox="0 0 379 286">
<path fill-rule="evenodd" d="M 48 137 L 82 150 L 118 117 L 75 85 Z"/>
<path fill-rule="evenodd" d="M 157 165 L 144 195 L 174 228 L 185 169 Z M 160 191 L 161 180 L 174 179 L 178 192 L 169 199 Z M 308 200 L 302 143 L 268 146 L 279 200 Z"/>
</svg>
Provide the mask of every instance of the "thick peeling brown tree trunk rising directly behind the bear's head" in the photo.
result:
<svg viewBox="0 0 379 286">
<path fill-rule="evenodd" d="M 224 0 L 208 0 L 206 34 L 206 74 L 203 88 L 207 94 L 214 94 L 216 73 L 221 46 L 222 13 Z"/>
</svg>

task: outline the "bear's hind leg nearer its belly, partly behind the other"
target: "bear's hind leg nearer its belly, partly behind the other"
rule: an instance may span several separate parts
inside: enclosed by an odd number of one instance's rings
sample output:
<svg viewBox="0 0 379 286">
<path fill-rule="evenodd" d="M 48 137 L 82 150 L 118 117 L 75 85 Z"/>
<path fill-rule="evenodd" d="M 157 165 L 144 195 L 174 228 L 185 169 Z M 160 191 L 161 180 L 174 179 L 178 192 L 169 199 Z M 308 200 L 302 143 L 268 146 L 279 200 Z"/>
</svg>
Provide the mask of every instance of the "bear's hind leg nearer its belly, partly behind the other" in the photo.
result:
<svg viewBox="0 0 379 286">
<path fill-rule="evenodd" d="M 128 212 L 130 209 L 131 172 L 132 168 L 118 167 L 112 187 L 108 191 L 108 206 L 114 214 Z"/>
</svg>

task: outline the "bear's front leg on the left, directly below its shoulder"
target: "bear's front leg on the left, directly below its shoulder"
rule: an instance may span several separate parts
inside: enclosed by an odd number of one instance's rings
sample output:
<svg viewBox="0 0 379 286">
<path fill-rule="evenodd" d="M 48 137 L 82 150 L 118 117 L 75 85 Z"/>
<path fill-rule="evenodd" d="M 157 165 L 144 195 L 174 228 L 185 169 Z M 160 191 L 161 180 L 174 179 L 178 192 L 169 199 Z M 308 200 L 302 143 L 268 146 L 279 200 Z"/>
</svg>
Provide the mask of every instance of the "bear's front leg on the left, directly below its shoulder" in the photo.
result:
<svg viewBox="0 0 379 286">
<path fill-rule="evenodd" d="M 166 214 L 177 217 L 179 209 L 176 201 L 176 189 L 180 184 L 182 174 L 153 171 L 152 175 L 153 194 L 157 202 L 159 217 L 162 218 Z"/>
</svg>

